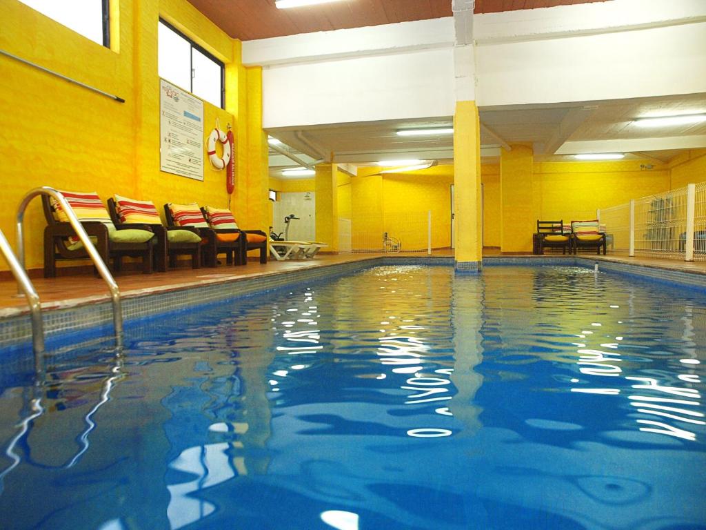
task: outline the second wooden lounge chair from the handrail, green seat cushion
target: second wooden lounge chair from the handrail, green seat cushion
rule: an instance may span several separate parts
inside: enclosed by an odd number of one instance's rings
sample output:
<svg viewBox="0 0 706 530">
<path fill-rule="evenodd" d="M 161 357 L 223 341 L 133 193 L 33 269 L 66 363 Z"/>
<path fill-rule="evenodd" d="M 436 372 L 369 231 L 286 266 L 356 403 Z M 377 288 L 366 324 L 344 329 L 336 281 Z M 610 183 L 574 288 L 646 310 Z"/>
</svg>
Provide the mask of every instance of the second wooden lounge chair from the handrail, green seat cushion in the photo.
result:
<svg viewBox="0 0 706 530">
<path fill-rule="evenodd" d="M 157 213 L 157 208 L 150 201 L 137 201 L 116 195 L 108 199 L 108 212 L 113 223 L 133 225 L 146 224 L 155 232 L 155 269 L 159 272 L 167 271 L 167 257 L 169 266 L 177 266 L 177 256 L 191 256 L 191 268 L 201 266 L 201 235 L 196 228 L 165 227 Z"/>
</svg>

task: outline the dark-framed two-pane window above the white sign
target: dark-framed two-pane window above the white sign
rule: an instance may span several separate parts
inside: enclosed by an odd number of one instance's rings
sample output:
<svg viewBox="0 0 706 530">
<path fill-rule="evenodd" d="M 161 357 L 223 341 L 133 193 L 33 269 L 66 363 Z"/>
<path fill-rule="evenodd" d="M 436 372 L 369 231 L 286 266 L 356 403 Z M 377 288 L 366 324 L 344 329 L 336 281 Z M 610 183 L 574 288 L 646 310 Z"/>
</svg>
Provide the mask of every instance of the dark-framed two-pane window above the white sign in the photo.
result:
<svg viewBox="0 0 706 530">
<path fill-rule="evenodd" d="M 159 73 L 162 79 L 223 108 L 223 71 L 221 61 L 160 20 Z"/>
</svg>

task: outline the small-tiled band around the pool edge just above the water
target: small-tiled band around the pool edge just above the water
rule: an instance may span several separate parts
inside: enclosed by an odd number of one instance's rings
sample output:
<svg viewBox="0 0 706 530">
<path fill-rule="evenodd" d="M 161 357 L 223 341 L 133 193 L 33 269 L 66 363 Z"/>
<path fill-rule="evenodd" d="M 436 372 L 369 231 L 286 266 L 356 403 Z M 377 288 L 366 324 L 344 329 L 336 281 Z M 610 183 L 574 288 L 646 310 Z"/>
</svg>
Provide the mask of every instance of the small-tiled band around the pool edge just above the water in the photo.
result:
<svg viewBox="0 0 706 530">
<path fill-rule="evenodd" d="M 706 290 L 706 275 L 687 271 L 639 264 L 623 264 L 592 257 L 485 257 L 483 266 L 583 266 L 601 271 L 619 273 L 634 278 L 658 281 L 665 285 L 681 285 Z M 454 266 L 453 257 L 373 257 L 342 264 L 278 272 L 251 278 L 225 278 L 223 281 L 183 285 L 156 293 L 128 295 L 123 300 L 123 318 L 128 325 L 136 319 L 167 312 L 190 310 L 222 300 L 241 298 L 271 290 L 297 285 L 302 281 L 320 281 L 368 269 L 378 265 Z M 76 307 L 52 308 L 43 313 L 47 338 L 92 328 L 110 327 L 112 306 L 109 300 L 90 302 Z M 110 333 L 111 331 L 108 331 Z M 28 314 L 19 314 L 0 320 L 0 348 L 29 343 L 32 329 Z"/>
</svg>

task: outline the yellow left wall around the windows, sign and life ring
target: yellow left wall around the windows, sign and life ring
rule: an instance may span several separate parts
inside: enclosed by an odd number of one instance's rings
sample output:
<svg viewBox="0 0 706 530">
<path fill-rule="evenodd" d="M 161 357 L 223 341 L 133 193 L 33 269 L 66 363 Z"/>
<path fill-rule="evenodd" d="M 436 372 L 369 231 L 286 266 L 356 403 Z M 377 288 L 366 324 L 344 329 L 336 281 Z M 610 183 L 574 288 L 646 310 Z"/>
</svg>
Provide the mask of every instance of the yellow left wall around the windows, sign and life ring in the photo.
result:
<svg viewBox="0 0 706 530">
<path fill-rule="evenodd" d="M 13 219 L 29 189 L 96 191 L 228 206 L 225 172 L 204 165 L 203 182 L 160 171 L 157 21 L 160 16 L 227 63 L 226 110 L 204 102 L 205 129 L 234 126 L 237 187 L 245 228 L 267 228 L 266 141 L 261 130 L 259 69 L 240 64 L 231 40 L 186 0 L 114 0 L 111 49 L 95 44 L 17 0 L 0 3 L 0 48 L 124 98 L 119 103 L 0 56 L 0 228 L 14 245 Z M 77 60 L 80 58 L 80 60 Z M 261 196 L 263 195 L 264 196 Z M 28 268 L 42 266 L 44 216 L 35 199 L 25 216 Z M 0 264 L 6 269 L 4 262 Z"/>
</svg>

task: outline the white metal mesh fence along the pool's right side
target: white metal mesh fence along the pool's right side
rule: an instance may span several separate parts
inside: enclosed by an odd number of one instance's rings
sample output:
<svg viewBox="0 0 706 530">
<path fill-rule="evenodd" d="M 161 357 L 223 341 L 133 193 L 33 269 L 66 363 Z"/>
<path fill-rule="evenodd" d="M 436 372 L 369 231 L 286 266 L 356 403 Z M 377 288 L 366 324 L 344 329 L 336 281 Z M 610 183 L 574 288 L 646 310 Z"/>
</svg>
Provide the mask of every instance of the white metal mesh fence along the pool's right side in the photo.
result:
<svg viewBox="0 0 706 530">
<path fill-rule="evenodd" d="M 599 216 L 611 252 L 706 261 L 706 182 L 605 208 Z"/>
</svg>

